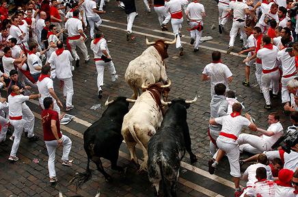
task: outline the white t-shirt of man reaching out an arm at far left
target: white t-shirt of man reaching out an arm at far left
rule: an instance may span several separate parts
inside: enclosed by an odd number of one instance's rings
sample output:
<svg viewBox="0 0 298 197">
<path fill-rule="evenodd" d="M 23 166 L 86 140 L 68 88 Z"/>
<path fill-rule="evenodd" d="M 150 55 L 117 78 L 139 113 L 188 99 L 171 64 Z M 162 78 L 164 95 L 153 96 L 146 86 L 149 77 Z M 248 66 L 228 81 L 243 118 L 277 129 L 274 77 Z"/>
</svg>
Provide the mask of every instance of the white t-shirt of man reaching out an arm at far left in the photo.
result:
<svg viewBox="0 0 298 197">
<path fill-rule="evenodd" d="M 8 96 L 9 105 L 9 114 L 12 117 L 23 116 L 22 108 L 25 104 L 25 101 L 29 101 L 29 96 L 24 96 L 22 94 L 12 96 Z M 25 104 L 26 105 L 26 104 Z"/>
</svg>

